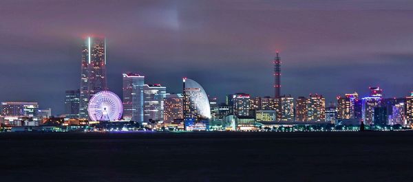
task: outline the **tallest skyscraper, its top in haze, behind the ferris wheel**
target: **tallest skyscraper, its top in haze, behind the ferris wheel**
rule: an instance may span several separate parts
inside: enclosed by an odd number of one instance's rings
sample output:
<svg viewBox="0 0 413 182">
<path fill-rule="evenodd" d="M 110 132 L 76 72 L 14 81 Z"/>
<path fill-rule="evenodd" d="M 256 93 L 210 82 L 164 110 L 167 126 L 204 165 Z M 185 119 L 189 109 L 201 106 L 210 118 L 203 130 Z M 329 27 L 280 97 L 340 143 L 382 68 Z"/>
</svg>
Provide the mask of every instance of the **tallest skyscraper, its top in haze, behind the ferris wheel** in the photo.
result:
<svg viewBox="0 0 413 182">
<path fill-rule="evenodd" d="M 79 118 L 88 119 L 87 104 L 99 91 L 107 90 L 105 38 L 87 37 L 83 44 Z"/>
</svg>

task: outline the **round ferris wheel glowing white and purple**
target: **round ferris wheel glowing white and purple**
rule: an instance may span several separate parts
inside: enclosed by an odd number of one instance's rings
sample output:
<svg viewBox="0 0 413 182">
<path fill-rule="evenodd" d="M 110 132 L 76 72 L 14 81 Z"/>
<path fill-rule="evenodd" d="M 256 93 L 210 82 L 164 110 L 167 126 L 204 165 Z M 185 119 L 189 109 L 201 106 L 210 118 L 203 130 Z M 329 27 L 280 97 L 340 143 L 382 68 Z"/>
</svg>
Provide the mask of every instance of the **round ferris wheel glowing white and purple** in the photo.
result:
<svg viewBox="0 0 413 182">
<path fill-rule="evenodd" d="M 87 112 L 90 120 L 94 122 L 120 120 L 123 112 L 122 101 L 111 91 L 100 91 L 90 99 Z"/>
</svg>

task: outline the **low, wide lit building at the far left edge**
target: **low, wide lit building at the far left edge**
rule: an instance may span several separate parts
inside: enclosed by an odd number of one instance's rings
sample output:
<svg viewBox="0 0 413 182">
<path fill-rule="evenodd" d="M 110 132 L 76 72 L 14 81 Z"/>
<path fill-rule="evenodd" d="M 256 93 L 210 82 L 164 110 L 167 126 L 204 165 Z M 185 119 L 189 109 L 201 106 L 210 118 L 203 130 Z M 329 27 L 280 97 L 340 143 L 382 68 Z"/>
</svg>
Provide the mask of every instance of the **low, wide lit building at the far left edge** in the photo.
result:
<svg viewBox="0 0 413 182">
<path fill-rule="evenodd" d="M 39 111 L 37 102 L 1 102 L 1 115 L 36 117 Z"/>
</svg>

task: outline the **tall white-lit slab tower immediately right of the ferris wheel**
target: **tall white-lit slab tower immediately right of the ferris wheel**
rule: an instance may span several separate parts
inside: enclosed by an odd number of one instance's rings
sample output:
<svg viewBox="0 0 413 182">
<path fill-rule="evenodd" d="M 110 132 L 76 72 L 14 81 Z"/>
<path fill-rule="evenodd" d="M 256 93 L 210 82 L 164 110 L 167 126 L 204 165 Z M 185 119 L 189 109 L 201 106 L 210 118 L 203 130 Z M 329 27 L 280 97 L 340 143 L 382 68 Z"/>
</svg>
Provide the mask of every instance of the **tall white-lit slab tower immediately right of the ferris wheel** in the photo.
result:
<svg viewBox="0 0 413 182">
<path fill-rule="evenodd" d="M 143 122 L 143 84 L 145 76 L 123 73 L 123 119 Z"/>
</svg>

